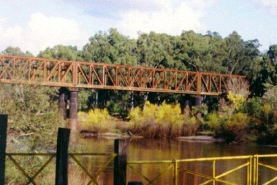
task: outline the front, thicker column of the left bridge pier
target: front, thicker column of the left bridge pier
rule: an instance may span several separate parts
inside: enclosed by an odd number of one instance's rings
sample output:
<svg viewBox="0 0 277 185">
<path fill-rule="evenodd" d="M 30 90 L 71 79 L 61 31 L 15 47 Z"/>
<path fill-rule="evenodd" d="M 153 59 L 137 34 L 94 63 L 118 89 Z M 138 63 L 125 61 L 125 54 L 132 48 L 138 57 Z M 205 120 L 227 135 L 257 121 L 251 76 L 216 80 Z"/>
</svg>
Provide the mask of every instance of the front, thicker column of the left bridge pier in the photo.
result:
<svg viewBox="0 0 277 185">
<path fill-rule="evenodd" d="M 70 91 L 69 99 L 69 128 L 73 133 L 77 131 L 78 90 Z"/>
</svg>

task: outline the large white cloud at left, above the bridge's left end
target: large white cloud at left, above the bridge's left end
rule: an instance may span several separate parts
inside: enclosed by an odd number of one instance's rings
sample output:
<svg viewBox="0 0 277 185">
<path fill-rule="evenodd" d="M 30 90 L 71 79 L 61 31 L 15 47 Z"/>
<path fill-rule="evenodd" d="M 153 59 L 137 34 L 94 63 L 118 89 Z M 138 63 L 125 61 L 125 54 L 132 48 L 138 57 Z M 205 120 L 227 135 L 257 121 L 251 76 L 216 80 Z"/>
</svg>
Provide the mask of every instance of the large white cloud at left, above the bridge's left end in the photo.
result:
<svg viewBox="0 0 277 185">
<path fill-rule="evenodd" d="M 7 46 L 18 46 L 23 51 L 37 55 L 46 47 L 57 44 L 77 45 L 81 48 L 88 40 L 78 23 L 61 17 L 48 17 L 42 13 L 31 14 L 27 27 L 3 27 L 0 22 L 0 50 Z"/>
</svg>

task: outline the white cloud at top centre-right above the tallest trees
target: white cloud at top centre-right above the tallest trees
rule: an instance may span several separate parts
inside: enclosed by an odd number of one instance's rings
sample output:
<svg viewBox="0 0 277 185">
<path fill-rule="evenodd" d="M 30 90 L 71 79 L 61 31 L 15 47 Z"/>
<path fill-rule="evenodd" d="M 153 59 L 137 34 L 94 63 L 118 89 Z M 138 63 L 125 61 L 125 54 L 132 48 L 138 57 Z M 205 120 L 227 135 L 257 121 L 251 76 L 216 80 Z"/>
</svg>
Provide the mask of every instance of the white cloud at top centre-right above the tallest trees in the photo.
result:
<svg viewBox="0 0 277 185">
<path fill-rule="evenodd" d="M 127 10 L 120 14 L 120 20 L 116 27 L 123 34 L 132 38 L 137 37 L 137 32 L 155 31 L 172 35 L 180 34 L 183 30 L 203 31 L 205 25 L 201 23 L 201 18 L 205 14 L 205 9 L 211 2 L 203 0 L 190 1 L 156 1 L 151 4 L 159 5 L 159 10 Z"/>
</svg>

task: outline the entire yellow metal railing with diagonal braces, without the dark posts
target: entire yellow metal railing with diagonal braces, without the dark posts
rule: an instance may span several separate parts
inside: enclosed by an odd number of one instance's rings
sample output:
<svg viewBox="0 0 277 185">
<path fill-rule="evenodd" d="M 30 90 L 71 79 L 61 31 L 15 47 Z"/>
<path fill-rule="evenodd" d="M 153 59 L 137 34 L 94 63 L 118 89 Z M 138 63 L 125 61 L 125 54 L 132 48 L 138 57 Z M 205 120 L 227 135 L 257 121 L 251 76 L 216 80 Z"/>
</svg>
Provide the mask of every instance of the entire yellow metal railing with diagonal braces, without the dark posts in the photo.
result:
<svg viewBox="0 0 277 185">
<path fill-rule="evenodd" d="M 97 184 L 97 177 L 105 170 L 105 168 L 114 160 L 115 156 L 117 154 L 107 154 L 107 153 L 69 153 L 69 157 L 73 159 L 73 161 L 76 162 L 76 164 L 81 167 L 81 169 L 85 172 L 85 174 L 90 178 L 88 184 Z M 46 162 L 33 174 L 29 175 L 24 168 L 19 164 L 19 162 L 14 158 L 14 156 L 48 156 L 48 159 Z M 106 156 L 109 157 L 107 161 L 102 165 L 95 175 L 92 175 L 89 173 L 89 171 L 86 169 L 86 167 L 80 162 L 80 160 L 77 159 L 77 156 Z M 6 157 L 10 159 L 14 163 L 14 165 L 21 171 L 21 173 L 27 178 L 26 184 L 36 184 L 35 178 L 39 175 L 41 171 L 52 161 L 53 158 L 56 157 L 55 153 L 6 153 Z M 229 157 L 211 157 L 211 158 L 191 158 L 191 159 L 173 159 L 173 160 L 141 160 L 141 161 L 128 161 L 127 166 L 134 172 L 136 172 L 138 175 L 140 175 L 147 184 L 154 184 L 155 181 L 159 178 L 161 178 L 163 175 L 166 174 L 169 170 L 172 170 L 172 181 L 174 185 L 178 184 L 178 174 L 179 172 L 184 172 L 186 174 L 194 175 L 197 177 L 201 177 L 205 179 L 204 182 L 201 183 L 201 185 L 210 184 L 213 185 L 217 183 L 221 184 L 238 184 L 238 182 L 233 182 L 229 180 L 222 179 L 223 177 L 226 177 L 227 175 L 238 171 L 240 169 L 246 169 L 246 184 L 247 185 L 258 185 L 258 184 L 273 184 L 277 180 L 277 176 L 267 180 L 265 183 L 260 183 L 258 177 L 259 177 L 259 167 L 264 167 L 265 169 L 270 169 L 273 171 L 277 171 L 277 165 L 273 166 L 272 164 L 266 164 L 265 162 L 262 162 L 262 158 L 277 158 L 277 154 L 266 154 L 266 155 L 245 155 L 245 156 L 229 156 Z M 220 174 L 217 171 L 217 164 L 219 161 L 226 161 L 226 160 L 243 160 L 242 164 L 237 165 L 236 167 L 221 172 Z M 203 174 L 197 171 L 190 171 L 187 169 L 182 169 L 180 164 L 184 163 L 190 163 L 190 162 L 211 162 L 210 165 L 212 167 L 211 174 L 207 175 Z M 146 165 L 146 164 L 164 164 L 167 165 L 166 167 L 162 168 L 161 171 L 156 175 L 154 178 L 149 178 L 146 175 L 144 175 L 142 172 L 137 170 L 134 166 L 135 165 Z"/>
</svg>

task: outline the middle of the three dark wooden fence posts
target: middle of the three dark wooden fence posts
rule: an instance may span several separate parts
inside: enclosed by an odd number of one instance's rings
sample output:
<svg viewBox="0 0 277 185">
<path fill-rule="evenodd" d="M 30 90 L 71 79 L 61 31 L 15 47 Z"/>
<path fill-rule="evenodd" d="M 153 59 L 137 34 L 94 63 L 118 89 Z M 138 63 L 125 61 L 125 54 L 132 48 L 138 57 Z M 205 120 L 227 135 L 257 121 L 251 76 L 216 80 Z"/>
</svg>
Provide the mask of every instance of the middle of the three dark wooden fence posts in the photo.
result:
<svg viewBox="0 0 277 185">
<path fill-rule="evenodd" d="M 59 128 L 56 152 L 56 185 L 68 184 L 68 145 L 70 129 Z"/>
</svg>

